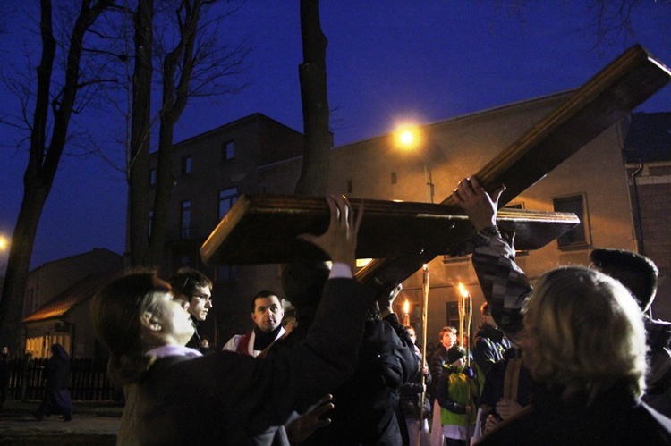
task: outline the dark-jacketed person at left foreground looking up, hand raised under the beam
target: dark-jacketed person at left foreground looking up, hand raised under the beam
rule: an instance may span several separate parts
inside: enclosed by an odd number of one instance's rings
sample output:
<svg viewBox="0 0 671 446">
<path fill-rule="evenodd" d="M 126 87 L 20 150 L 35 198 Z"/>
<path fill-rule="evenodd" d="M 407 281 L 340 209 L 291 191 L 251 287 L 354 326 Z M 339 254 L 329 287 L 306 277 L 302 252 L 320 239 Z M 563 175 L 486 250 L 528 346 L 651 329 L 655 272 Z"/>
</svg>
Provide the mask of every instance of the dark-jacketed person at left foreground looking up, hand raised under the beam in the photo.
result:
<svg viewBox="0 0 671 446">
<path fill-rule="evenodd" d="M 352 277 L 361 211 L 344 197 L 327 201 L 327 232 L 301 237 L 333 261 L 315 320 L 304 341 L 268 358 L 202 356 L 184 347 L 193 335 L 190 315 L 153 273 L 127 274 L 93 297 L 93 326 L 109 349 L 110 376 L 127 396 L 118 444 L 271 444 L 281 439 L 264 435 L 268 428 L 352 375 L 373 302 L 372 291 Z"/>
</svg>

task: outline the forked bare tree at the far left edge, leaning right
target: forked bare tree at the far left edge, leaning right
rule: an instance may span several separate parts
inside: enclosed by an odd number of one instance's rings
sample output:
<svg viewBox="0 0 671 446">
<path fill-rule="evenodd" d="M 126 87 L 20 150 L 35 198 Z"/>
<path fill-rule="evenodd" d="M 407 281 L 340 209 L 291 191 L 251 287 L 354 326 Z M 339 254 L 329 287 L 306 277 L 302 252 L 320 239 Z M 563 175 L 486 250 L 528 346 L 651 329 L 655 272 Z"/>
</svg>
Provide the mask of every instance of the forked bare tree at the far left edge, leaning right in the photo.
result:
<svg viewBox="0 0 671 446">
<path fill-rule="evenodd" d="M 30 126 L 30 156 L 23 175 L 23 200 L 13 231 L 3 295 L 0 299 L 0 342 L 10 346 L 10 349 L 17 347 L 23 295 L 38 223 L 68 139 L 68 127 L 72 114 L 76 111 L 78 93 L 99 81 L 82 79 L 84 39 L 98 17 L 114 3 L 114 0 L 81 2 L 67 43 L 64 82 L 63 85 L 58 85 L 54 81 L 57 42 L 52 2 L 40 1 L 42 55 L 37 70 L 37 94 L 32 119 L 29 120 L 30 114 L 26 114 Z M 50 134 L 47 135 L 49 131 Z"/>
</svg>

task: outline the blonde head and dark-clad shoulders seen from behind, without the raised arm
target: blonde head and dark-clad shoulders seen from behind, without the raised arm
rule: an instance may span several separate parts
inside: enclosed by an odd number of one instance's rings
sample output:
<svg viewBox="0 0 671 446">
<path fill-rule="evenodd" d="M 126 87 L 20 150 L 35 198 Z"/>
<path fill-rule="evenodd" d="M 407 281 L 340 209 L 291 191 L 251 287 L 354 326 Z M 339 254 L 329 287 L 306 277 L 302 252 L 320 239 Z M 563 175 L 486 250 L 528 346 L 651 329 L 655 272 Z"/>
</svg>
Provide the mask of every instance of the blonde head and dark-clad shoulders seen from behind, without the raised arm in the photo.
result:
<svg viewBox="0 0 671 446">
<path fill-rule="evenodd" d="M 531 405 L 478 444 L 671 444 L 671 420 L 641 403 L 645 332 L 622 284 L 582 266 L 540 277 L 523 311 Z"/>
</svg>

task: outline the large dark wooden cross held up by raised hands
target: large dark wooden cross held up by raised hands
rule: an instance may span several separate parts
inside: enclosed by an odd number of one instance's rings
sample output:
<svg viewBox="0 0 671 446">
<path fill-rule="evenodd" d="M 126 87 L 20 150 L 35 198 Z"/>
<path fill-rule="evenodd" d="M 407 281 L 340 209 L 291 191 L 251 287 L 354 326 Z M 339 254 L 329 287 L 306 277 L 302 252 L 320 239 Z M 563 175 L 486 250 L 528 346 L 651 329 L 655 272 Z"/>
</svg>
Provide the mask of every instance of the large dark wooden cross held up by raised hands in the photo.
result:
<svg viewBox="0 0 671 446">
<path fill-rule="evenodd" d="M 499 199 L 499 206 L 505 206 L 669 80 L 671 71 L 663 63 L 633 46 L 475 175 L 488 192 L 505 185 Z M 392 290 L 434 257 L 461 250 L 473 233 L 452 196 L 438 205 L 355 199 L 352 205 L 360 201 L 365 201 L 365 212 L 357 256 L 376 260 L 356 277 L 380 293 Z M 497 216 L 499 226 L 515 231 L 515 246 L 522 249 L 540 248 L 578 223 L 573 214 L 522 209 L 501 209 Z M 200 255 L 208 265 L 323 260 L 318 248 L 295 236 L 321 233 L 327 224 L 324 198 L 243 194 Z M 411 227 L 415 230 L 408 231 Z"/>
</svg>

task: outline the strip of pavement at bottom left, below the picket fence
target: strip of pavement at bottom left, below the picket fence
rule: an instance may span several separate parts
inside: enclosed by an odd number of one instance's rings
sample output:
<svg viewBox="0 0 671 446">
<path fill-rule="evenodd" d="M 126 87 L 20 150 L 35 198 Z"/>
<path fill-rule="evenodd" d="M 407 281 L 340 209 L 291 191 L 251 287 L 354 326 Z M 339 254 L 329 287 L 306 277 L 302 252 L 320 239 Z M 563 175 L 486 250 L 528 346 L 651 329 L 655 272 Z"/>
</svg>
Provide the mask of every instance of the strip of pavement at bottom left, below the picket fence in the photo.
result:
<svg viewBox="0 0 671 446">
<path fill-rule="evenodd" d="M 0 444 L 114 445 L 123 408 L 111 401 L 74 401 L 72 421 L 59 415 L 37 421 L 39 400 L 8 400 L 0 410 Z"/>
</svg>

